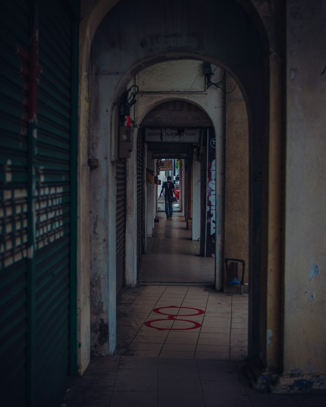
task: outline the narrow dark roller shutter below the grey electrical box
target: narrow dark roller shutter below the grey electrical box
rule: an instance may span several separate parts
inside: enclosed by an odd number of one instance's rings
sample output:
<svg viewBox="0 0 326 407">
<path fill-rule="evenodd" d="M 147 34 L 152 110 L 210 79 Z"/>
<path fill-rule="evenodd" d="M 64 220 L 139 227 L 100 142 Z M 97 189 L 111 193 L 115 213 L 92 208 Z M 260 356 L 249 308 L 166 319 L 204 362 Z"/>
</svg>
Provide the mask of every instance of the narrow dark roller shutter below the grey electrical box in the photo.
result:
<svg viewBox="0 0 326 407">
<path fill-rule="evenodd" d="M 123 289 L 125 273 L 125 233 L 126 233 L 126 160 L 116 162 L 117 179 L 117 211 L 116 211 L 116 272 L 117 272 L 117 299 Z"/>
</svg>

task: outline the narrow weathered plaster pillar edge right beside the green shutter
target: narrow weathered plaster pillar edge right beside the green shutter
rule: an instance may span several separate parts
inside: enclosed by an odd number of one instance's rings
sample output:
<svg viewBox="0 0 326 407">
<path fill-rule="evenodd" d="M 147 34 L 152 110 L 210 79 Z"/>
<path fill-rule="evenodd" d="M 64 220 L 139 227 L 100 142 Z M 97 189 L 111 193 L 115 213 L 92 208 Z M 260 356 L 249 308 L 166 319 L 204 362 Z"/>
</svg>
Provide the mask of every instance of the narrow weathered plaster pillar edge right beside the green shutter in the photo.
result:
<svg viewBox="0 0 326 407">
<path fill-rule="evenodd" d="M 90 47 L 98 24 L 118 0 L 81 0 L 79 24 L 77 358 L 83 374 L 90 361 Z"/>
</svg>

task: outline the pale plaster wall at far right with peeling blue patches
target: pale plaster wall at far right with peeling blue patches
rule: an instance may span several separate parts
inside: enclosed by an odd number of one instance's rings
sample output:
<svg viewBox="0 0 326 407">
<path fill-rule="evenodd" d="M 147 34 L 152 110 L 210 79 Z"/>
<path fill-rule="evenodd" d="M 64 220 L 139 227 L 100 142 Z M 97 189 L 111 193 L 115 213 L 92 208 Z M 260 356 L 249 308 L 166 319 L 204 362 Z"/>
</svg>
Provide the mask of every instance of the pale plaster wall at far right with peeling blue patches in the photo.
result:
<svg viewBox="0 0 326 407">
<path fill-rule="evenodd" d="M 283 383 L 326 389 L 326 3 L 286 4 Z"/>
</svg>

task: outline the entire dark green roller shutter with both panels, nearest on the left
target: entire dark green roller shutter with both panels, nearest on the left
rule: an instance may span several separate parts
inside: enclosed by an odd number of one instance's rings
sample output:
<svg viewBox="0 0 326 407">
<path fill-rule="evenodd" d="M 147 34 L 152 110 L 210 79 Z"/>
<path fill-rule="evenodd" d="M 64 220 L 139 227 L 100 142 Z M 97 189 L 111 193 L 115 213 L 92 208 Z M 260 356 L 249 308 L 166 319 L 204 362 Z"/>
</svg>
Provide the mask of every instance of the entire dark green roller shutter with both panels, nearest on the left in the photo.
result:
<svg viewBox="0 0 326 407">
<path fill-rule="evenodd" d="M 37 15 L 42 73 L 36 92 L 29 80 Z M 63 0 L 0 5 L 0 387 L 6 407 L 53 405 L 76 363 L 78 24 L 72 20 Z M 29 123 L 29 97 L 36 94 L 37 121 Z"/>
</svg>

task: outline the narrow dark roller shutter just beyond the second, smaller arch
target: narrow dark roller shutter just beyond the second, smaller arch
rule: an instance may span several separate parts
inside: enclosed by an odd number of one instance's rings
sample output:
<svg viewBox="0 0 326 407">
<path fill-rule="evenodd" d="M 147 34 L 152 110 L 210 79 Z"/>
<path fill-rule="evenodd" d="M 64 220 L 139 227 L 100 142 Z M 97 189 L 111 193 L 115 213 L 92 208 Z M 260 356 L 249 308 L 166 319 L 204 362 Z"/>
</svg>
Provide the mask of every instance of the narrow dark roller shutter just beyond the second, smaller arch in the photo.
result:
<svg viewBox="0 0 326 407">
<path fill-rule="evenodd" d="M 143 185 L 144 185 L 144 142 L 143 132 L 137 135 L 137 274 L 141 264 L 141 254 L 143 253 Z"/>
</svg>

